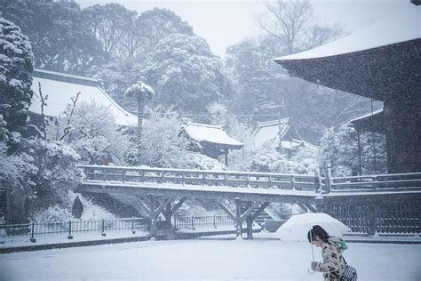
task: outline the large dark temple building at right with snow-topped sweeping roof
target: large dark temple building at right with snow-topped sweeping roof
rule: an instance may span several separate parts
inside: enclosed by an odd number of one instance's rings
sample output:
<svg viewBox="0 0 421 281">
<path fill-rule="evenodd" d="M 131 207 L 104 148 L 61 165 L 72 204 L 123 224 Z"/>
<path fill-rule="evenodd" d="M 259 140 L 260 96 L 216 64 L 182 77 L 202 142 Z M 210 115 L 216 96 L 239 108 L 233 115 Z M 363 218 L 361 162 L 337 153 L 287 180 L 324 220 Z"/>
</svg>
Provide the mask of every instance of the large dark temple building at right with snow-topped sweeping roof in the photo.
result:
<svg viewBox="0 0 421 281">
<path fill-rule="evenodd" d="M 384 102 L 368 118 L 385 132 L 388 173 L 421 171 L 421 14 L 408 5 L 337 41 L 275 59 L 292 76 Z"/>
</svg>

